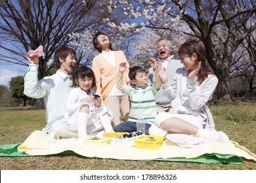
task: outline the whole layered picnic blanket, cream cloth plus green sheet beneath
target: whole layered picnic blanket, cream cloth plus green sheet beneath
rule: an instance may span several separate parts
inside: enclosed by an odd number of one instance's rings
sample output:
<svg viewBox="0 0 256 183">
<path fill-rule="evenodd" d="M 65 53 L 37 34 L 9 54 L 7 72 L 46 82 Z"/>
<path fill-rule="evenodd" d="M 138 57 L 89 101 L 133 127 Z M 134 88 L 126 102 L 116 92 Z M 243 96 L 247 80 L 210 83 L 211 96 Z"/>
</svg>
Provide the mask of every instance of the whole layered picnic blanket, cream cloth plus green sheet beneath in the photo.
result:
<svg viewBox="0 0 256 183">
<path fill-rule="evenodd" d="M 87 158 L 111 158 L 127 160 L 194 161 L 202 163 L 242 163 L 243 158 L 256 162 L 256 155 L 238 142 L 221 143 L 207 141 L 195 147 L 181 147 L 171 141 L 163 141 L 156 150 L 117 146 L 98 145 L 77 139 L 60 139 L 53 145 L 45 143 L 41 131 L 34 131 L 24 143 L 0 146 L 0 156 L 46 156 L 70 154 L 74 152 Z M 43 144 L 39 143 L 43 140 Z M 11 153 L 10 153 L 11 152 Z M 24 154 L 26 153 L 26 154 Z M 12 155 L 11 155 L 12 154 Z"/>
</svg>

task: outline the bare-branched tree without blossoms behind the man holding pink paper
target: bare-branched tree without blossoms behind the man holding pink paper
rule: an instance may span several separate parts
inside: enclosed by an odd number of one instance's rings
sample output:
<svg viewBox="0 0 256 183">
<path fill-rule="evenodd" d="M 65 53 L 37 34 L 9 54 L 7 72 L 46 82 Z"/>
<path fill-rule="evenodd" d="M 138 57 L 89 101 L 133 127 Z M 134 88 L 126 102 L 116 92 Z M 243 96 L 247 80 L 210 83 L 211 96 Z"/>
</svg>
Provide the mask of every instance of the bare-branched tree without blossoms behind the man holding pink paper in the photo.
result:
<svg viewBox="0 0 256 183">
<path fill-rule="evenodd" d="M 45 57 L 40 58 L 38 78 L 43 78 L 49 75 L 53 67 L 48 67 L 47 62 L 53 58 L 55 50 L 60 46 L 70 46 L 70 41 L 73 41 L 69 34 L 81 33 L 87 28 L 96 29 L 106 16 L 108 11 L 99 8 L 96 0 L 1 1 L 1 61 L 28 65 L 26 52 L 35 50 L 42 44 Z M 80 61 L 85 53 L 75 46 L 74 48 Z"/>
</svg>

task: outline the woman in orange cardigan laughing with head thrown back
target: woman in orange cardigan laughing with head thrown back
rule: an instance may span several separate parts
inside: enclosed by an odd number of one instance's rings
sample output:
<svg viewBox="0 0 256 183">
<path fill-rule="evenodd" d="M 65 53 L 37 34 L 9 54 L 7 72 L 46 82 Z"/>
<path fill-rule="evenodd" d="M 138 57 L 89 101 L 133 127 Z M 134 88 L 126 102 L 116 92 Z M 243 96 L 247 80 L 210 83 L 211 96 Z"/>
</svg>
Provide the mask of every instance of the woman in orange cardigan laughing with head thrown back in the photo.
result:
<svg viewBox="0 0 256 183">
<path fill-rule="evenodd" d="M 93 46 L 100 54 L 93 59 L 93 72 L 96 78 L 96 93 L 101 95 L 106 106 L 114 113 L 112 126 L 116 127 L 123 120 L 129 118 L 129 96 L 116 88 L 116 78 L 119 64 L 126 63 L 127 70 L 123 73 L 123 82 L 129 82 L 129 63 L 122 51 L 113 51 L 110 38 L 99 31 L 93 35 Z"/>
</svg>

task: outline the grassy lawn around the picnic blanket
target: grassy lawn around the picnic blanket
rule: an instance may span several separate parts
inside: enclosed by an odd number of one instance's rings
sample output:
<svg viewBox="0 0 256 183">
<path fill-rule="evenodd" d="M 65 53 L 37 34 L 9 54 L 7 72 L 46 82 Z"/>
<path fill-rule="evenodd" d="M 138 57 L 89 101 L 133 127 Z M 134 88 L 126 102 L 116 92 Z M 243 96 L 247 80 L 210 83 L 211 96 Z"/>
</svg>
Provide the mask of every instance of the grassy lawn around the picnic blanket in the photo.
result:
<svg viewBox="0 0 256 183">
<path fill-rule="evenodd" d="M 256 154 L 256 103 L 209 104 L 216 129 L 224 131 L 232 141 Z M 0 108 L 0 145 L 24 140 L 45 125 L 45 110 L 12 110 Z M 255 170 L 256 163 L 244 159 L 242 164 L 188 163 L 174 161 L 128 161 L 85 158 L 76 154 L 64 156 L 0 157 L 0 169 L 58 169 L 58 170 Z"/>
</svg>

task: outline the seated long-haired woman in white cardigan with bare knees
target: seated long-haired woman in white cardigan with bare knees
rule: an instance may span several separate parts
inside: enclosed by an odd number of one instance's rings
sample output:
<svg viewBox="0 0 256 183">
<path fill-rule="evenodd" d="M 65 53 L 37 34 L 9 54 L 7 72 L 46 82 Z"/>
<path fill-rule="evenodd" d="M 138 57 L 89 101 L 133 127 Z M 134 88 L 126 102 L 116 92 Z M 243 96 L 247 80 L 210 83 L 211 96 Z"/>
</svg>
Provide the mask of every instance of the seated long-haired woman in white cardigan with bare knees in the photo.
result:
<svg viewBox="0 0 256 183">
<path fill-rule="evenodd" d="M 168 84 L 167 75 L 161 78 L 163 90 L 171 99 L 171 111 L 157 114 L 155 125 L 149 130 L 150 135 L 182 133 L 228 142 L 223 131 L 215 131 L 213 117 L 206 105 L 213 97 L 218 79 L 206 67 L 203 43 L 196 40 L 184 42 L 179 48 L 179 56 L 184 68 L 177 69 L 172 84 Z M 161 64 L 157 69 L 166 73 Z"/>
</svg>

